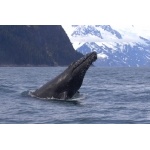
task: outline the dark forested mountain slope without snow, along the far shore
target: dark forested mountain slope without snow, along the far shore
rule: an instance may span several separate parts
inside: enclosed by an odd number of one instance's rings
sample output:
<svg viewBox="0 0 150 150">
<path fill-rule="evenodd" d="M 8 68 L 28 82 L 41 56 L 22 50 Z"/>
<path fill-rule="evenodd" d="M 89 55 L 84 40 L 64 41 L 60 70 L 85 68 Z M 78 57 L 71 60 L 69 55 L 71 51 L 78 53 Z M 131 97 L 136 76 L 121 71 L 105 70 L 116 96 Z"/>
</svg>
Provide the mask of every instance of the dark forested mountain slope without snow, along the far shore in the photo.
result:
<svg viewBox="0 0 150 150">
<path fill-rule="evenodd" d="M 64 66 L 79 59 L 61 26 L 0 26 L 0 65 Z"/>
</svg>

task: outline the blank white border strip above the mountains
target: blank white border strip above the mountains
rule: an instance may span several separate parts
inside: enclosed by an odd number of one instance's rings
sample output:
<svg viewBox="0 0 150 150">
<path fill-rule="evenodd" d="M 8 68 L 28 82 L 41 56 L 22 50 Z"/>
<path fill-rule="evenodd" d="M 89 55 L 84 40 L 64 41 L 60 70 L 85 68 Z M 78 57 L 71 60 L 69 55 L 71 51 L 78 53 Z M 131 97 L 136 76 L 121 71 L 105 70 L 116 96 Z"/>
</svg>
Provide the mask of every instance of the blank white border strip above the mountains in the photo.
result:
<svg viewBox="0 0 150 150">
<path fill-rule="evenodd" d="M 148 0 L 1 0 L 1 24 L 149 26 Z"/>
</svg>

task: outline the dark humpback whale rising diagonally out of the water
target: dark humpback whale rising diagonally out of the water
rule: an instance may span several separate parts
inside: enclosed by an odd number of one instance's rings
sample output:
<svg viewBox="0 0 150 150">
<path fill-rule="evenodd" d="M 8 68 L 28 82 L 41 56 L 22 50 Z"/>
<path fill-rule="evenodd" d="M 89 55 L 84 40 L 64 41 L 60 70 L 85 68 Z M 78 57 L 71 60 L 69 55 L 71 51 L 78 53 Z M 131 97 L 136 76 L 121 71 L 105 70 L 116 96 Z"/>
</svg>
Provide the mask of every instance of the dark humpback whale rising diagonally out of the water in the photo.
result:
<svg viewBox="0 0 150 150">
<path fill-rule="evenodd" d="M 97 59 L 97 53 L 86 54 L 78 61 L 73 62 L 60 75 L 44 84 L 32 94 L 39 98 L 70 99 L 82 85 L 86 71 Z"/>
</svg>

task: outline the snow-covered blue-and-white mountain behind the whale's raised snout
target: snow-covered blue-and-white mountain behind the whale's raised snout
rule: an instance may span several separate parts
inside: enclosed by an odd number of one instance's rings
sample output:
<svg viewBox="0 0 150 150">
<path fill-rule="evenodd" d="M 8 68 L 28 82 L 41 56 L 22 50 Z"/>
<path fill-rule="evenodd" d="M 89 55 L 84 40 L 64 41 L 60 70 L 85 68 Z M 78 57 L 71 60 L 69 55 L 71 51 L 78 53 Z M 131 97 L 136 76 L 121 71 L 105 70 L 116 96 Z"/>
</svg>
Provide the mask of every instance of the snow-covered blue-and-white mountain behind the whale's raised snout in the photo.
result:
<svg viewBox="0 0 150 150">
<path fill-rule="evenodd" d="M 63 26 L 73 47 L 96 51 L 99 66 L 150 66 L 150 27 L 114 25 Z"/>
</svg>

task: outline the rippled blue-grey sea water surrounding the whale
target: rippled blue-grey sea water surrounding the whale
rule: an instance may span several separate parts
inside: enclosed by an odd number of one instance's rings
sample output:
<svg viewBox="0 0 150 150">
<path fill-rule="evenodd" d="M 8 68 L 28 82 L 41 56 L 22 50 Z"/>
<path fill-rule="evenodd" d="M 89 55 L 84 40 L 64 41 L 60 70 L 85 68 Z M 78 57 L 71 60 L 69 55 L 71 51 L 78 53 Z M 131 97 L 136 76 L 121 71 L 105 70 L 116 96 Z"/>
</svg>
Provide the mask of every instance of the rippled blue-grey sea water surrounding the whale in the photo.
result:
<svg viewBox="0 0 150 150">
<path fill-rule="evenodd" d="M 63 67 L 0 68 L 0 123 L 150 123 L 150 68 L 91 67 L 70 101 L 42 100 L 33 91 Z"/>
</svg>

